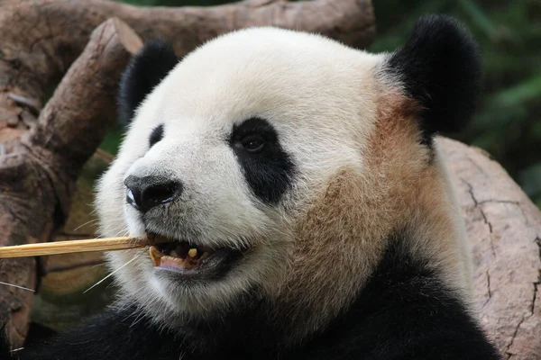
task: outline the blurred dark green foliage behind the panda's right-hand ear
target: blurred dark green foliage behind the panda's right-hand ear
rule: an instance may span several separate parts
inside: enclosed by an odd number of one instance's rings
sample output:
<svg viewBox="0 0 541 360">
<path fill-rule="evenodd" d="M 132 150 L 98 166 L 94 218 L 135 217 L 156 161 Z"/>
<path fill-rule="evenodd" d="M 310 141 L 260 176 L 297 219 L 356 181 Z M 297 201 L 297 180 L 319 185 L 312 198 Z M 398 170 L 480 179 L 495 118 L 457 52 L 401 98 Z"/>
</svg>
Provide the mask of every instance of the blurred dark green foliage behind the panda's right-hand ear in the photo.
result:
<svg viewBox="0 0 541 360">
<path fill-rule="evenodd" d="M 341 0 L 335 0 L 341 1 Z M 215 5 L 227 0 L 124 0 L 152 6 Z M 421 14 L 458 18 L 482 50 L 480 108 L 470 127 L 452 136 L 487 150 L 541 208 L 541 0 L 372 0 L 377 36 L 369 50 L 401 46 Z M 115 154 L 119 128 L 102 148 Z"/>
</svg>

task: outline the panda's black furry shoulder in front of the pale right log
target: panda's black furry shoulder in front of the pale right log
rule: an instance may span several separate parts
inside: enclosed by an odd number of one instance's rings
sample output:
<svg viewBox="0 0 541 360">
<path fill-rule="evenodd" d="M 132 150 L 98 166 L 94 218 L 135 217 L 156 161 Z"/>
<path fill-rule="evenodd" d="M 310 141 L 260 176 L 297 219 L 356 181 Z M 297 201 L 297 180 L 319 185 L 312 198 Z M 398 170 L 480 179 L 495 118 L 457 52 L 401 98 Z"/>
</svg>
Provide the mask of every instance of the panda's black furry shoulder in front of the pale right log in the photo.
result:
<svg viewBox="0 0 541 360">
<path fill-rule="evenodd" d="M 352 306 L 304 347 L 309 358 L 499 358 L 469 316 L 463 294 L 407 243 L 401 235 L 390 238 Z"/>
</svg>

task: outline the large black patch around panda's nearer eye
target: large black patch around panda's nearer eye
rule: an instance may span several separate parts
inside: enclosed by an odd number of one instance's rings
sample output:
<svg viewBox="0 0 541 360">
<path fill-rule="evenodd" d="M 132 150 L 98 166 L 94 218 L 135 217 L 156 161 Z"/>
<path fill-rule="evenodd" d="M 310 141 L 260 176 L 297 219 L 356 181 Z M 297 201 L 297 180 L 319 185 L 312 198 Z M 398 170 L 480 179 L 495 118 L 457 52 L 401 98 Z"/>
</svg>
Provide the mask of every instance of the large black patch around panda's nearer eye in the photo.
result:
<svg viewBox="0 0 541 360">
<path fill-rule="evenodd" d="M 228 141 L 255 196 L 262 202 L 279 202 L 291 186 L 295 166 L 271 123 L 261 118 L 243 121 L 234 125 Z"/>
</svg>

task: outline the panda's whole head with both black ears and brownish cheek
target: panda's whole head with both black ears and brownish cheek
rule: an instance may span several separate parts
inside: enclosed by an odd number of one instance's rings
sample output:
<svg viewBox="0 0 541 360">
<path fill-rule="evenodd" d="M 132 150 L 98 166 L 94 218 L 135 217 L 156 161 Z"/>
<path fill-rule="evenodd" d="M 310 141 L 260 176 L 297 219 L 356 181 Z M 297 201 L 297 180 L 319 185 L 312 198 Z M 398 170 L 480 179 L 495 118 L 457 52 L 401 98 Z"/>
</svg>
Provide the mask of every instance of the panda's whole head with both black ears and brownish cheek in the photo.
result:
<svg viewBox="0 0 541 360">
<path fill-rule="evenodd" d="M 181 61 L 148 43 L 124 73 L 129 129 L 96 201 L 103 236 L 166 241 L 108 256 L 124 297 L 175 326 L 252 294 L 317 329 L 397 232 L 459 286 L 433 138 L 470 118 L 479 72 L 470 37 L 438 16 L 390 54 L 273 28 Z"/>
</svg>

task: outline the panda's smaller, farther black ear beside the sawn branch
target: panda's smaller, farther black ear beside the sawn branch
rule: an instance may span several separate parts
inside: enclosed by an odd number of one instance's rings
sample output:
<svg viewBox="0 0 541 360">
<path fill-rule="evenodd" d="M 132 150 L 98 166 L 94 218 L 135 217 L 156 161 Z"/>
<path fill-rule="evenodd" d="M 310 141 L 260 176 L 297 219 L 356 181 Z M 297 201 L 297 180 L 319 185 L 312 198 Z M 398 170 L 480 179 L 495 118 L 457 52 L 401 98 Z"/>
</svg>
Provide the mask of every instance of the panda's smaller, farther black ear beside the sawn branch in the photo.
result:
<svg viewBox="0 0 541 360">
<path fill-rule="evenodd" d="M 133 120 L 139 104 L 178 62 L 170 43 L 164 40 L 147 42 L 133 56 L 120 81 L 118 103 L 124 125 Z"/>
</svg>

